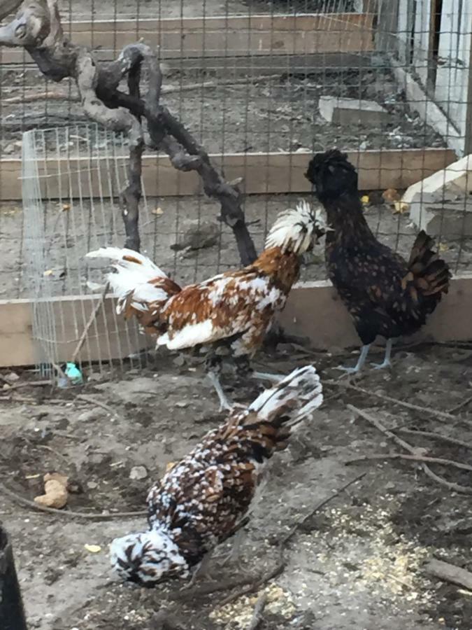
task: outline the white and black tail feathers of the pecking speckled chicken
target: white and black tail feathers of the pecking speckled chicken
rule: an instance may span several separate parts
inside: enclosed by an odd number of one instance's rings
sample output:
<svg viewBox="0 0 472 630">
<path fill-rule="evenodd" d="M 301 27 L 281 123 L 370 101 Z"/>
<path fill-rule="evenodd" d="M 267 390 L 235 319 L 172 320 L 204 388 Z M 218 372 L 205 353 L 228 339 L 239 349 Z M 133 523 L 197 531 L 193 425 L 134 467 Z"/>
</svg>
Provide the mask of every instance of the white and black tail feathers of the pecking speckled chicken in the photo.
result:
<svg viewBox="0 0 472 630">
<path fill-rule="evenodd" d="M 294 425 L 315 411 L 323 402 L 323 388 L 315 367 L 298 367 L 276 386 L 266 389 L 249 407 L 259 418 L 269 419 L 278 409 Z"/>
</svg>

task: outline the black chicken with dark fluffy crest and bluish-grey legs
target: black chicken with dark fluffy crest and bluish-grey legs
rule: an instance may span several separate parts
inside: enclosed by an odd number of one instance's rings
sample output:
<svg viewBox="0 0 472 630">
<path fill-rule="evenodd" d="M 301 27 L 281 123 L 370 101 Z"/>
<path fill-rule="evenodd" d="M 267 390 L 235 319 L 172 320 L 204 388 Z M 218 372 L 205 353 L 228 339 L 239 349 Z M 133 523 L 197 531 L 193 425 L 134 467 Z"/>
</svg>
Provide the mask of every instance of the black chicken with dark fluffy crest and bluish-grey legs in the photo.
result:
<svg viewBox="0 0 472 630">
<path fill-rule="evenodd" d="M 347 155 L 334 149 L 315 155 L 306 172 L 313 193 L 327 211 L 325 257 L 328 275 L 354 319 L 362 350 L 355 367 L 362 369 L 378 335 L 387 339 L 385 358 L 375 367 L 389 367 L 392 339 L 411 335 L 448 293 L 448 265 L 432 251 L 434 240 L 421 231 L 406 262 L 379 243 L 362 211 L 357 172 Z"/>
</svg>

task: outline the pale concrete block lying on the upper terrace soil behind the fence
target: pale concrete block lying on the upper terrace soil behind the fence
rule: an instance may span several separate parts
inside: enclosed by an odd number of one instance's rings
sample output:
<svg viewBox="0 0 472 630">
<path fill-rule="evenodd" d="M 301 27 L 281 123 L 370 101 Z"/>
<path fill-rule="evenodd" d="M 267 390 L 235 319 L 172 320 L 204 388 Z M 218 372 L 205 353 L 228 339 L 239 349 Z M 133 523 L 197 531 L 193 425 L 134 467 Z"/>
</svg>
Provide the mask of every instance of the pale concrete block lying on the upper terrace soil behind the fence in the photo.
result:
<svg viewBox="0 0 472 630">
<path fill-rule="evenodd" d="M 322 96 L 318 108 L 324 120 L 334 125 L 380 125 L 387 123 L 390 117 L 387 110 L 375 101 L 359 99 Z"/>
</svg>

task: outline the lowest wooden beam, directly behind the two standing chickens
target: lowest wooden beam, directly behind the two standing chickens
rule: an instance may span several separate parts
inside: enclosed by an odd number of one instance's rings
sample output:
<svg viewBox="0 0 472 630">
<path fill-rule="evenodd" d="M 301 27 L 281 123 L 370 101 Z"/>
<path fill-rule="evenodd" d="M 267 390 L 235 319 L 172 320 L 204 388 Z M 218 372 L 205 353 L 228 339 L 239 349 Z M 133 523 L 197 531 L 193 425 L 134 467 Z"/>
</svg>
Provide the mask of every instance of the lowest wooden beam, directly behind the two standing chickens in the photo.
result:
<svg viewBox="0 0 472 630">
<path fill-rule="evenodd" d="M 77 339 L 100 299 L 99 295 L 64 297 L 52 300 L 55 316 L 62 313 L 63 327 L 57 325 L 57 359 L 69 360 Z M 40 302 L 41 303 L 41 302 Z M 439 304 L 415 341 L 467 341 L 472 339 L 472 274 L 452 279 L 449 293 Z M 37 342 L 31 335 L 31 302 L 0 301 L 0 367 L 31 365 L 38 360 Z M 65 317 L 67 316 L 67 318 Z M 58 321 L 59 321 L 58 317 Z M 345 349 L 359 345 L 348 312 L 328 281 L 301 283 L 289 295 L 280 317 L 287 332 L 308 337 L 318 349 Z M 133 323 L 115 314 L 115 299 L 106 297 L 104 309 L 91 328 L 80 361 L 126 358 L 152 347 L 151 337 L 136 335 Z"/>
</svg>

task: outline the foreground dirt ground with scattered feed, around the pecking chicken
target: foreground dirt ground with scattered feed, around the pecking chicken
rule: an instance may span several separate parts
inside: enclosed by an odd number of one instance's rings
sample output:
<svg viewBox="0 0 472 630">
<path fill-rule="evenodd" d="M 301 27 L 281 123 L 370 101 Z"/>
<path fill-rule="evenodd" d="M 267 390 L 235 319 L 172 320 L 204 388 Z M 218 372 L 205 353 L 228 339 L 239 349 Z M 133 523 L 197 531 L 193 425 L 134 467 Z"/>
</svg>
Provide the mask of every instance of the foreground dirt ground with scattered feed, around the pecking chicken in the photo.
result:
<svg viewBox="0 0 472 630">
<path fill-rule="evenodd" d="M 213 391 L 201 380 L 201 365 L 194 361 L 178 367 L 181 362 L 173 356 L 158 356 L 148 372 L 91 380 L 80 389 L 6 389 L 0 400 L 2 483 L 32 499 L 42 493 L 43 474 L 55 470 L 70 475 L 81 489 L 69 496 L 66 510 L 110 514 L 143 509 L 151 480 L 222 420 Z M 179 590 L 180 583 L 152 590 L 124 587 L 110 573 L 108 543 L 145 528 L 145 517 L 95 521 L 66 511 L 43 514 L 0 496 L 0 517 L 13 537 L 29 627 L 242 630 L 266 589 L 261 630 L 471 630 L 471 593 L 431 578 L 425 568 L 429 559 L 438 558 L 472 570 L 470 495 L 427 479 L 413 461 L 380 458 L 346 465 L 356 457 L 402 452 L 346 405 L 364 409 L 431 456 L 470 463 L 472 410 L 464 397 L 472 379 L 472 351 L 453 346 L 397 349 L 391 372 L 367 371 L 357 382 L 365 393 L 342 381 L 326 382 L 338 378 L 334 366 L 354 361 L 349 354 L 331 356 L 287 345 L 276 356 L 259 356 L 258 365 L 278 372 L 315 363 L 325 381 L 325 402 L 289 450 L 273 458 L 239 562 L 222 568 L 212 561 L 208 573 L 187 591 Z M 29 372 L 19 375 L 16 384 L 31 378 Z M 6 372 L 3 377 L 9 378 Z M 229 391 L 239 402 L 249 402 L 259 390 L 257 384 L 233 385 Z M 84 393 L 85 398 L 78 397 Z M 427 409 L 412 411 L 376 397 L 384 394 L 421 407 L 452 409 L 455 419 L 441 420 Z M 465 404 L 455 410 L 461 402 Z M 434 431 L 469 447 L 401 429 Z M 130 479 L 136 465 L 145 466 L 146 479 Z M 431 469 L 449 482 L 472 486 L 470 472 L 438 464 Z M 256 592 L 220 605 L 238 593 L 241 582 L 254 583 L 277 566 L 277 541 L 320 500 L 362 472 L 364 477 L 299 528 L 285 549 L 287 563 L 280 575 Z M 85 545 L 101 549 L 92 553 Z"/>
</svg>

